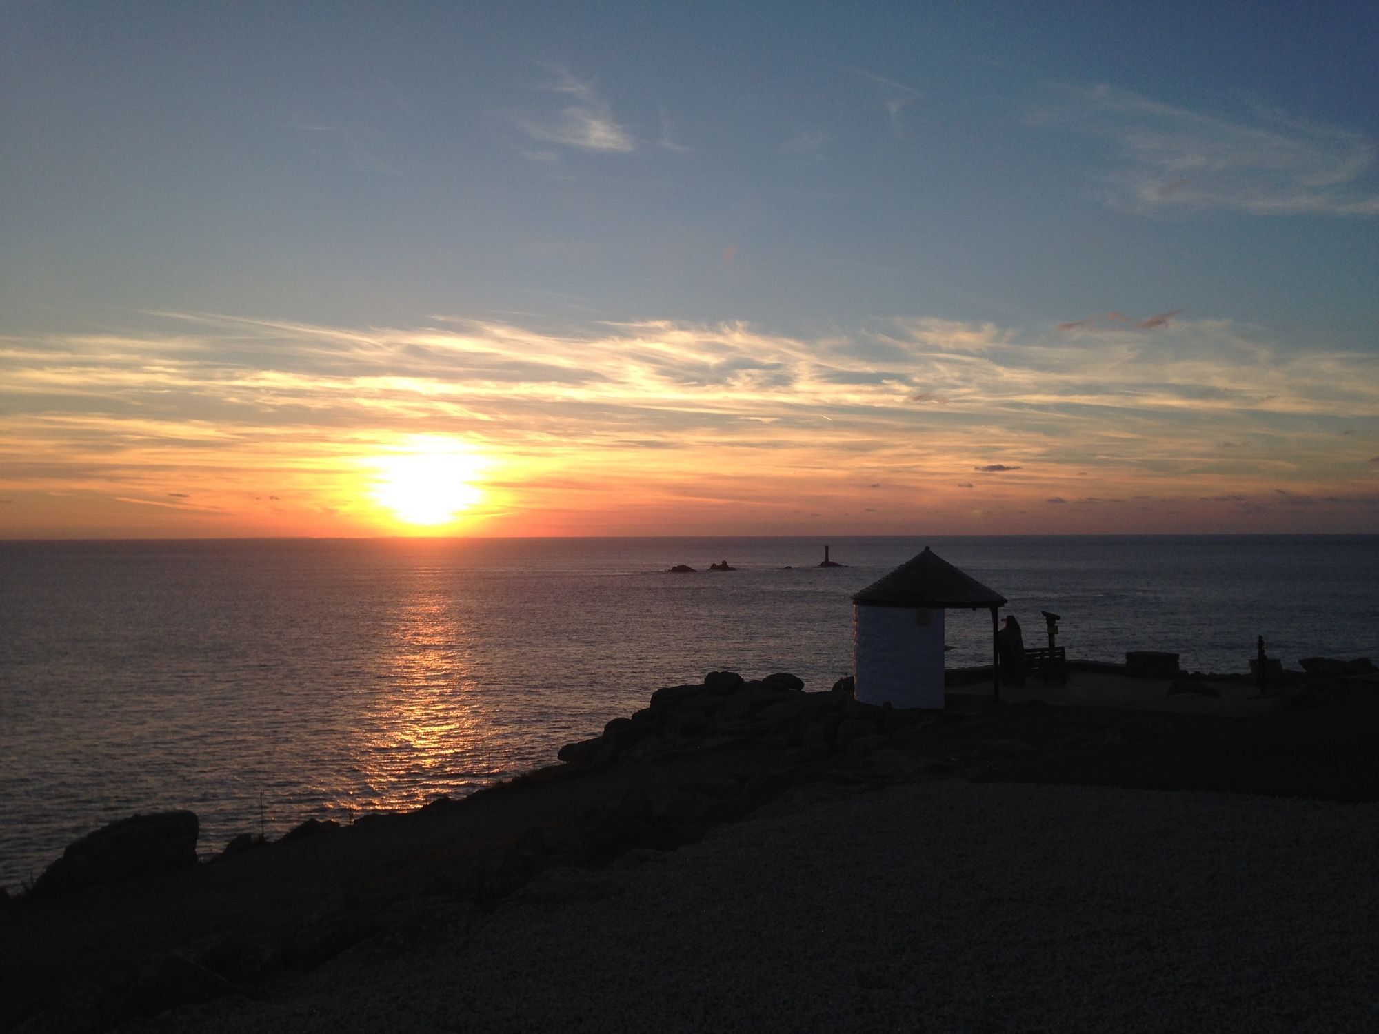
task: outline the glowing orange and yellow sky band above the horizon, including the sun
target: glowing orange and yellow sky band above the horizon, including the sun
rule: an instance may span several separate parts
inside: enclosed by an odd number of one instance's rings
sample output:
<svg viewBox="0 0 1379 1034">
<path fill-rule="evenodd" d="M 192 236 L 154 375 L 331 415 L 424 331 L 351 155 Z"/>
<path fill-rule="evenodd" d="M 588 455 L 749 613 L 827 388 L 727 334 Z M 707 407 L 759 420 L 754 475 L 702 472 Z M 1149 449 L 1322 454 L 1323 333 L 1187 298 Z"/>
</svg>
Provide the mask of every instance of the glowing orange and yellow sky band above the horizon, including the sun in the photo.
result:
<svg viewBox="0 0 1379 1034">
<path fill-rule="evenodd" d="M 1375 361 L 1289 345 L 163 314 L 0 342 L 0 536 L 1373 531 Z"/>
</svg>

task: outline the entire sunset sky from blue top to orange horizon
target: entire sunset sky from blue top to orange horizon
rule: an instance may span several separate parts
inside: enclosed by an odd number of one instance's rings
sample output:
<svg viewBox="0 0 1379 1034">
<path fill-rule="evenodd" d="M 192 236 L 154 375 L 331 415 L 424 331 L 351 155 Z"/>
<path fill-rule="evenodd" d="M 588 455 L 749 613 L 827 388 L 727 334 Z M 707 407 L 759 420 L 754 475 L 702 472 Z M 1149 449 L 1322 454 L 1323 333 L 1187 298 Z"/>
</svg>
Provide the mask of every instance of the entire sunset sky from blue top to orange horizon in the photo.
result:
<svg viewBox="0 0 1379 1034">
<path fill-rule="evenodd" d="M 0 6 L 0 538 L 1379 531 L 1379 6 Z"/>
</svg>

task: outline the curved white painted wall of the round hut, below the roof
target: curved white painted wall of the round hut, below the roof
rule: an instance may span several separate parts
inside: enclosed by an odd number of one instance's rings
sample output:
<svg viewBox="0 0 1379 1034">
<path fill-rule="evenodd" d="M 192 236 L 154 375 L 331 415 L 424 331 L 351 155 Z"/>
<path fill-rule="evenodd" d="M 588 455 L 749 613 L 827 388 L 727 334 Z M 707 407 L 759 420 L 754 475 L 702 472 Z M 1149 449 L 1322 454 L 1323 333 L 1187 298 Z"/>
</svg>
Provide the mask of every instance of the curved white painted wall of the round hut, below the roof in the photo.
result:
<svg viewBox="0 0 1379 1034">
<path fill-rule="evenodd" d="M 863 703 L 943 707 L 942 608 L 852 605 L 852 673 Z"/>
</svg>

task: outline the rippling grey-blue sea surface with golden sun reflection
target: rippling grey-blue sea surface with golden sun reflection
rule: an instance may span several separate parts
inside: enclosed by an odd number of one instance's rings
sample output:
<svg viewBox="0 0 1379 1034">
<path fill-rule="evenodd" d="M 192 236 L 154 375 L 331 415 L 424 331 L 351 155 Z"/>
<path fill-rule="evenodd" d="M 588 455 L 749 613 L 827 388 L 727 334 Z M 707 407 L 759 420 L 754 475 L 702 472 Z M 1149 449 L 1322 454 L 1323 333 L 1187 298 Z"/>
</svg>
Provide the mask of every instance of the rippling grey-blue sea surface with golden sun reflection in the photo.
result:
<svg viewBox="0 0 1379 1034">
<path fill-rule="evenodd" d="M 1379 536 L 827 545 L 847 567 L 803 538 L 0 542 L 0 885 L 137 811 L 193 809 L 214 853 L 463 795 L 712 670 L 827 689 L 851 594 L 924 546 L 1073 658 L 1379 659 Z M 946 631 L 990 660 L 989 612 Z"/>
</svg>

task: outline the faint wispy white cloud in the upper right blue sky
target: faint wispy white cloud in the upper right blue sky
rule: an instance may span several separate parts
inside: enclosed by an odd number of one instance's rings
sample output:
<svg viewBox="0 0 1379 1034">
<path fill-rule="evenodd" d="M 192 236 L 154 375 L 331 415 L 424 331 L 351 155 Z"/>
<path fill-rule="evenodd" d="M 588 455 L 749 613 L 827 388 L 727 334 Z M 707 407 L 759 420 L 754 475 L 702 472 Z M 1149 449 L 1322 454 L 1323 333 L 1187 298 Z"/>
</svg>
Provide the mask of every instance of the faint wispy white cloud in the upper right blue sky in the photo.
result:
<svg viewBox="0 0 1379 1034">
<path fill-rule="evenodd" d="M 1106 200 L 1120 208 L 1255 215 L 1379 215 L 1375 143 L 1364 134 L 1256 110 L 1230 119 L 1110 85 L 1062 85 L 1030 121 L 1106 141 Z"/>
</svg>

